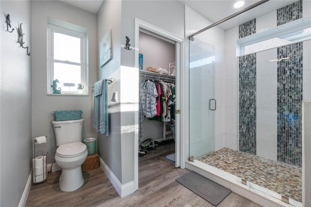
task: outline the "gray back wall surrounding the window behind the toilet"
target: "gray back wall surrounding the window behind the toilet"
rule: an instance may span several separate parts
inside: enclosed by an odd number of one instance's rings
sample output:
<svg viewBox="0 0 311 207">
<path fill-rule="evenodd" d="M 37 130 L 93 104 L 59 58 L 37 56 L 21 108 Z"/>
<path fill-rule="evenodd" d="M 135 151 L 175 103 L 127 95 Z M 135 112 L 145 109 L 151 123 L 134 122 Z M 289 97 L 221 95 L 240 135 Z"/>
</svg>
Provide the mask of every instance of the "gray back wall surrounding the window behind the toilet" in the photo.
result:
<svg viewBox="0 0 311 207">
<path fill-rule="evenodd" d="M 47 136 L 38 149 L 49 152 L 52 163 L 56 142 L 51 121 L 56 110 L 81 109 L 85 119 L 83 137 L 95 137 L 93 119 L 93 87 L 97 77 L 96 15 L 61 1 L 32 1 L 32 136 Z M 52 17 L 88 29 L 88 96 L 47 95 L 47 19 Z M 30 89 L 30 88 L 29 88 Z"/>
</svg>

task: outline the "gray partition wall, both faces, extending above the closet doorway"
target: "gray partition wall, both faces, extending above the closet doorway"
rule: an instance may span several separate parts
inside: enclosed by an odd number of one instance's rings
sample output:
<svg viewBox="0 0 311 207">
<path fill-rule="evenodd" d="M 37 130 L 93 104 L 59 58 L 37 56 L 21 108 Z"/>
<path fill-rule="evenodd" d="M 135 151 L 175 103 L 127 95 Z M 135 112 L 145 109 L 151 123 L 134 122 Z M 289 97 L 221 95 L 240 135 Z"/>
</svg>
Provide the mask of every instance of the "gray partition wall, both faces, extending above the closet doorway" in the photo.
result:
<svg viewBox="0 0 311 207">
<path fill-rule="evenodd" d="M 97 80 L 115 78 L 109 85 L 108 100 L 113 91 L 118 91 L 119 96 L 119 102 L 108 104 L 110 134 L 98 136 L 98 154 L 121 184 L 134 180 L 134 105 L 138 100 L 128 102 L 125 97 L 128 91 L 134 97 L 138 77 L 126 80 L 127 72 L 134 68 L 135 50 L 125 50 L 124 46 L 125 36 L 131 39 L 132 48 L 135 45 L 135 17 L 178 37 L 184 36 L 184 6 L 179 1 L 104 1 L 97 14 L 98 44 L 108 30 L 112 31 L 112 60 L 103 68 L 98 67 Z M 121 87 L 121 77 L 122 83 L 128 81 L 126 86 Z"/>
</svg>

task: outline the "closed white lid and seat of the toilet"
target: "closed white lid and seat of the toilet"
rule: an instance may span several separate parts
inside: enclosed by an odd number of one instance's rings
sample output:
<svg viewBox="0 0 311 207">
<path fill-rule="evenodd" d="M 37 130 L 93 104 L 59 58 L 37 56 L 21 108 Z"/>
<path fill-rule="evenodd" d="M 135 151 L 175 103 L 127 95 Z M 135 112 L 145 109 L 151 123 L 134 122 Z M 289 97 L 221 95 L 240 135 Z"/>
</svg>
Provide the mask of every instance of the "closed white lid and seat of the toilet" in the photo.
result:
<svg viewBox="0 0 311 207">
<path fill-rule="evenodd" d="M 87 151 L 86 145 L 82 142 L 62 144 L 56 149 L 56 155 L 60 157 L 75 157 Z"/>
</svg>

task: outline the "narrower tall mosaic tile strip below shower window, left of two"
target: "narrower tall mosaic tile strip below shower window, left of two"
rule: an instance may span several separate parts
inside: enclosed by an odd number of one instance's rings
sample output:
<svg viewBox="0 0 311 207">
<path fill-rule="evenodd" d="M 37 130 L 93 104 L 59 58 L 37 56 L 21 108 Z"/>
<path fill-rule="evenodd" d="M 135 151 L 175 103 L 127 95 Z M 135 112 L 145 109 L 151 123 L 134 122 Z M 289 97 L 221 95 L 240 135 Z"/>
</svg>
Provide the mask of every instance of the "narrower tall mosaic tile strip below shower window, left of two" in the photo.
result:
<svg viewBox="0 0 311 207">
<path fill-rule="evenodd" d="M 256 53 L 239 57 L 239 150 L 256 155 Z"/>
</svg>

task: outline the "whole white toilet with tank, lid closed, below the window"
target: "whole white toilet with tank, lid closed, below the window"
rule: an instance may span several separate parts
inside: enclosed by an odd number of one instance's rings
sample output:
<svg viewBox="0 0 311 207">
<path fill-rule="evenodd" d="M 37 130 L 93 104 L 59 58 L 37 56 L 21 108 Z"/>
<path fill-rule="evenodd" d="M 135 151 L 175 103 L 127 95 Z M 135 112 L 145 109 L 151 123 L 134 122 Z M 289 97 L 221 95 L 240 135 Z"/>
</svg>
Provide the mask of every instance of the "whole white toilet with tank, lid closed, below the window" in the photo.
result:
<svg viewBox="0 0 311 207">
<path fill-rule="evenodd" d="M 84 183 L 81 166 L 86 160 L 87 149 L 81 142 L 83 121 L 52 121 L 58 146 L 55 162 L 62 168 L 59 187 L 65 192 L 77 190 Z"/>
</svg>

